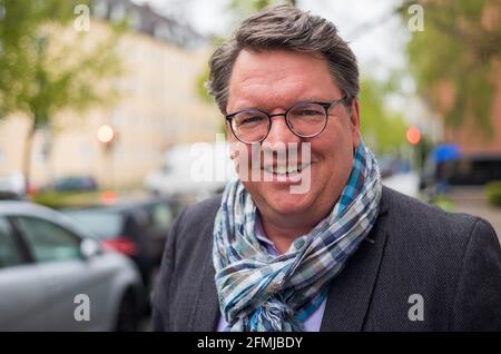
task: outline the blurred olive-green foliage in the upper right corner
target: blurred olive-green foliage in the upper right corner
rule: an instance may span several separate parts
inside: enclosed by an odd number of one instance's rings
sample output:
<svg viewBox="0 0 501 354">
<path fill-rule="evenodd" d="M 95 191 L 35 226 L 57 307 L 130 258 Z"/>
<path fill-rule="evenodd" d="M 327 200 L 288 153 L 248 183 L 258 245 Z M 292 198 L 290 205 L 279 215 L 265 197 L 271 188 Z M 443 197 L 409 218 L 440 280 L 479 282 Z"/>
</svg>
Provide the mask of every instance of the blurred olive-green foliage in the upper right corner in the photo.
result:
<svg viewBox="0 0 501 354">
<path fill-rule="evenodd" d="M 412 1 L 414 3 L 416 1 Z M 463 124 L 472 114 L 483 134 L 490 137 L 491 108 L 495 85 L 493 62 L 501 57 L 501 28 L 481 23 L 485 7 L 501 11 L 501 2 L 489 0 L 418 1 L 424 9 L 424 31 L 412 32 L 407 45 L 410 68 L 419 92 L 431 107 L 443 114 L 451 127 Z M 409 14 L 405 1 L 401 16 Z M 440 107 L 436 87 L 451 83 L 454 104 L 446 111 Z"/>
</svg>

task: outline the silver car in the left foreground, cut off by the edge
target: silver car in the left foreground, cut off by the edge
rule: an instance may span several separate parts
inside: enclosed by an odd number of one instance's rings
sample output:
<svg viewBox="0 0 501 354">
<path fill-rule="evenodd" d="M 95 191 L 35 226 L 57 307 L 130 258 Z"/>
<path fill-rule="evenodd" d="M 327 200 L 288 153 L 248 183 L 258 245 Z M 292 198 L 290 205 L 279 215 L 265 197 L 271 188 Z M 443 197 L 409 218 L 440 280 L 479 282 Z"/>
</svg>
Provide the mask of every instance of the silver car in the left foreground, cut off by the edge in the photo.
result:
<svg viewBox="0 0 501 354">
<path fill-rule="evenodd" d="M 52 209 L 0 200 L 0 331 L 135 331 L 146 307 L 127 257 Z"/>
</svg>

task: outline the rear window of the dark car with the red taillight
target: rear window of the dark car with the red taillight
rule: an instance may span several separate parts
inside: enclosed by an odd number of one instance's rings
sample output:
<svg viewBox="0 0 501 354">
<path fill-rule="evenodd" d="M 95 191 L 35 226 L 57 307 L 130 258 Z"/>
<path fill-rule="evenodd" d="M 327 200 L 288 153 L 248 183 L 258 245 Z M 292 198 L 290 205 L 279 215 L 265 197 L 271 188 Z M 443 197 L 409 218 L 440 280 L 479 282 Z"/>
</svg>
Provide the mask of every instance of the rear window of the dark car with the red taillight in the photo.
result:
<svg viewBox="0 0 501 354">
<path fill-rule="evenodd" d="M 124 217 L 120 214 L 102 209 L 66 210 L 65 214 L 99 238 L 117 237 L 124 227 Z"/>
</svg>

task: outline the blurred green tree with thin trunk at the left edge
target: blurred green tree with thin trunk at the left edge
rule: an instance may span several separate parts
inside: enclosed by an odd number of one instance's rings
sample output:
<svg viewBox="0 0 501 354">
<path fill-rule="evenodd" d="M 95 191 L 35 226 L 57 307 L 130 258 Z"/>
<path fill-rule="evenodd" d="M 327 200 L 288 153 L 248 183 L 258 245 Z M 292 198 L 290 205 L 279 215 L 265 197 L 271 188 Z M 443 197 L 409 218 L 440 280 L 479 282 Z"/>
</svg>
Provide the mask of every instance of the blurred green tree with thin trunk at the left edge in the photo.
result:
<svg viewBox="0 0 501 354">
<path fill-rule="evenodd" d="M 20 112 L 30 120 L 27 181 L 37 129 L 63 109 L 81 111 L 117 97 L 104 80 L 121 72 L 114 47 L 125 27 L 110 26 L 99 38 L 78 22 L 88 10 L 82 0 L 0 0 L 0 119 Z"/>
</svg>

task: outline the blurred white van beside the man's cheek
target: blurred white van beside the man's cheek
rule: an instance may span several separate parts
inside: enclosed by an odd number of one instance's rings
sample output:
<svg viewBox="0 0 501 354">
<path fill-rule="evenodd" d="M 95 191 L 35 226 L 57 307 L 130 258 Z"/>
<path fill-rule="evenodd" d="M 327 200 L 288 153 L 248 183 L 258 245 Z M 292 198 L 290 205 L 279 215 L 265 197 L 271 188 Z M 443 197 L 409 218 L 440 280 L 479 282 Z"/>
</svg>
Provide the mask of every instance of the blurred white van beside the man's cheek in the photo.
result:
<svg viewBox="0 0 501 354">
<path fill-rule="evenodd" d="M 156 195 L 199 199 L 222 191 L 236 178 L 225 142 L 195 142 L 170 148 L 161 166 L 146 177 L 144 186 Z"/>
</svg>

